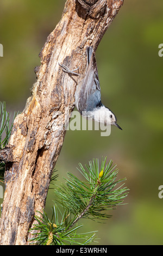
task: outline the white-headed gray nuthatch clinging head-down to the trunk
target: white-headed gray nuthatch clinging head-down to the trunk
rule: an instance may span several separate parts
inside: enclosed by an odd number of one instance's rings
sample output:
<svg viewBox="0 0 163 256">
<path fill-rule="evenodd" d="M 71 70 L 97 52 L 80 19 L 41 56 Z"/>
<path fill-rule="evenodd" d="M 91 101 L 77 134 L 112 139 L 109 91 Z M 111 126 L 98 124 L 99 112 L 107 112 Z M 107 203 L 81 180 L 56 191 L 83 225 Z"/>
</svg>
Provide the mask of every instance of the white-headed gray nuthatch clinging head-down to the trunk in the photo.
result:
<svg viewBox="0 0 163 256">
<path fill-rule="evenodd" d="M 101 102 L 101 88 L 93 48 L 91 46 L 87 47 L 86 53 L 87 68 L 84 75 L 74 72 L 78 69 L 71 71 L 65 65 L 59 64 L 62 70 L 68 74 L 80 76 L 75 95 L 76 107 L 83 117 L 94 119 L 105 125 L 115 125 L 122 130 L 117 124 L 115 114 Z"/>
</svg>

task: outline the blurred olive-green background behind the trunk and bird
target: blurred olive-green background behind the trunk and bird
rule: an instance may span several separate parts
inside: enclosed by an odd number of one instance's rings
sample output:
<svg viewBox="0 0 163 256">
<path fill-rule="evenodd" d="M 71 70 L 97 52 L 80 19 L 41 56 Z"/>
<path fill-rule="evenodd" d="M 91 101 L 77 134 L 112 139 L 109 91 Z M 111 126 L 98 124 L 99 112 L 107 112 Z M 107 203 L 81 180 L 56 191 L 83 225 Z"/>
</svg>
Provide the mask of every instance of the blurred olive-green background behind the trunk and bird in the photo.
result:
<svg viewBox="0 0 163 256">
<path fill-rule="evenodd" d="M 60 20 L 65 0 L 1 0 L 0 100 L 8 111 L 22 111 L 35 82 L 39 52 Z M 162 245 L 163 1 L 124 0 L 96 52 L 103 103 L 116 114 L 123 131 L 67 131 L 56 169 L 78 174 L 78 163 L 107 156 L 127 178 L 124 203 L 104 224 L 81 220 L 84 231 L 98 230 L 99 245 Z M 2 199 L 0 199 L 2 202 Z M 51 217 L 54 193 L 46 211 Z"/>
</svg>

